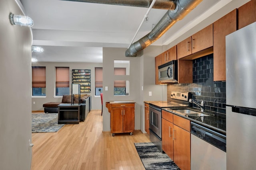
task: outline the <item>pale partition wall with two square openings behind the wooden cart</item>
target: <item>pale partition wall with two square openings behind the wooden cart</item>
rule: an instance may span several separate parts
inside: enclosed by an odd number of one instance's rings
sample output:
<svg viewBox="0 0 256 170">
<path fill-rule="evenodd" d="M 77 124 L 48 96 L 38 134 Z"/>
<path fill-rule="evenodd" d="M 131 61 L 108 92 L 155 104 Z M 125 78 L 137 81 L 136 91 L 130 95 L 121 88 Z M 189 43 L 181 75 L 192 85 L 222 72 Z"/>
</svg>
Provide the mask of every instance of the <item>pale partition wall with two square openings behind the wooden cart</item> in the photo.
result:
<svg viewBox="0 0 256 170">
<path fill-rule="evenodd" d="M 125 57 L 126 48 L 103 48 L 103 131 L 110 131 L 110 113 L 106 102 L 110 100 L 134 100 L 135 129 L 140 129 L 140 57 Z M 130 75 L 114 76 L 114 60 L 130 61 Z M 129 80 L 129 96 L 114 96 L 114 80 Z M 108 91 L 105 87 L 108 86 Z"/>
</svg>

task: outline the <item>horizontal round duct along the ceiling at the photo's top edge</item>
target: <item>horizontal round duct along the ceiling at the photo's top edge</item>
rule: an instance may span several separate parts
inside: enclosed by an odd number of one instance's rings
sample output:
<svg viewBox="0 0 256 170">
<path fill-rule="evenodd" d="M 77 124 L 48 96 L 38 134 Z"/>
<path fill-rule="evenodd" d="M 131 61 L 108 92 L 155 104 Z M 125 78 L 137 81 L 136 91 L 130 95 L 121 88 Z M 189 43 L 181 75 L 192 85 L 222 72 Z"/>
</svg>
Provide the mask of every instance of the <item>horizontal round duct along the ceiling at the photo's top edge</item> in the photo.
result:
<svg viewBox="0 0 256 170">
<path fill-rule="evenodd" d="M 96 4 L 108 4 L 108 5 L 122 5 L 122 6 L 136 6 L 149 8 L 152 0 L 66 0 L 76 2 L 89 2 Z M 162 10 L 174 10 L 175 5 L 173 0 L 157 0 L 152 8 Z"/>
</svg>

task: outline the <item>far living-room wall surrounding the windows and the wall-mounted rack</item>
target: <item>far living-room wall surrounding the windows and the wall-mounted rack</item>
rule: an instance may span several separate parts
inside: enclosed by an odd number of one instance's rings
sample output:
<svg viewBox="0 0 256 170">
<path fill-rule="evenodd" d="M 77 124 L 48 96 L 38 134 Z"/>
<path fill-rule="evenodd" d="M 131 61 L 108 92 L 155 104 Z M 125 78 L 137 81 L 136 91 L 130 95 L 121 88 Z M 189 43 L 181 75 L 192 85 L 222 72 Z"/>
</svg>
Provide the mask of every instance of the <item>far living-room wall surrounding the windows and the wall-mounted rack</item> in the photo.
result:
<svg viewBox="0 0 256 170">
<path fill-rule="evenodd" d="M 102 67 L 102 63 L 59 63 L 59 62 L 36 62 L 32 66 L 46 67 L 46 97 L 32 98 L 32 111 L 44 110 L 43 104 L 47 102 L 61 102 L 62 97 L 54 97 L 55 95 L 55 67 L 69 67 L 70 69 L 70 94 L 72 84 L 72 69 L 89 69 L 91 70 L 91 92 L 82 93 L 92 96 L 92 109 L 101 109 L 100 97 L 94 97 L 95 94 L 95 67 Z M 30 90 L 31 94 L 31 90 Z M 30 96 L 31 97 L 31 96 Z M 34 104 L 35 102 L 35 104 Z"/>
</svg>

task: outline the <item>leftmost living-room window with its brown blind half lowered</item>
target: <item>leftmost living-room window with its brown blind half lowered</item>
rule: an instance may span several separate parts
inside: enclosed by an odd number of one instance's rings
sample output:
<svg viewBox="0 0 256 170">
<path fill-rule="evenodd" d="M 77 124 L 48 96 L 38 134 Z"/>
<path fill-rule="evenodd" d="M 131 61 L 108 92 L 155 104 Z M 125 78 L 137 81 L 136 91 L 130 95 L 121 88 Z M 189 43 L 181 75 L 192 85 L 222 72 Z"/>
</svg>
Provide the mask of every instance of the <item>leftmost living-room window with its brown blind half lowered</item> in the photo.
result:
<svg viewBox="0 0 256 170">
<path fill-rule="evenodd" d="M 46 67 L 32 66 L 32 96 L 46 96 Z"/>
</svg>

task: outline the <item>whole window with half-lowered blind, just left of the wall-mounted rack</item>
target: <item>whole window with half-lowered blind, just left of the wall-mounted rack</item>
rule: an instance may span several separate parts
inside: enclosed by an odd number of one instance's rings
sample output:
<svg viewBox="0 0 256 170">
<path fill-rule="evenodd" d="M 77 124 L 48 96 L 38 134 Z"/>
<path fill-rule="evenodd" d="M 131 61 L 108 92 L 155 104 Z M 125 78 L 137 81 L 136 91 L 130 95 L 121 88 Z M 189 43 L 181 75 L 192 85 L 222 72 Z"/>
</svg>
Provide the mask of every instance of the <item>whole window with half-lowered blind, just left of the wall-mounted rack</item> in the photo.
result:
<svg viewBox="0 0 256 170">
<path fill-rule="evenodd" d="M 69 94 L 69 67 L 56 67 L 56 96 Z"/>
</svg>

